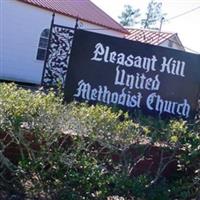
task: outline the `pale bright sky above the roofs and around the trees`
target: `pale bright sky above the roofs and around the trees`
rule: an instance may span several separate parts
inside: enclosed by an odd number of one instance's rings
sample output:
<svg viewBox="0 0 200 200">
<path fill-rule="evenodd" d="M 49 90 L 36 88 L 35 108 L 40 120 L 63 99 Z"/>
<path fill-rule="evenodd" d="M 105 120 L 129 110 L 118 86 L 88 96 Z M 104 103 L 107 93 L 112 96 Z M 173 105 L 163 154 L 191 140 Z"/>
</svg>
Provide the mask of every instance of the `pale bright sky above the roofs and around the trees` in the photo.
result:
<svg viewBox="0 0 200 200">
<path fill-rule="evenodd" d="M 91 1 L 117 22 L 119 22 L 118 16 L 121 15 L 124 5 L 129 4 L 133 8 L 140 8 L 141 14 L 145 14 L 149 3 L 149 0 Z M 162 24 L 162 31 L 178 33 L 178 36 L 187 51 L 200 54 L 200 0 L 157 1 L 162 2 L 162 11 L 167 14 L 165 22 Z M 187 11 L 191 12 L 184 14 Z"/>
</svg>

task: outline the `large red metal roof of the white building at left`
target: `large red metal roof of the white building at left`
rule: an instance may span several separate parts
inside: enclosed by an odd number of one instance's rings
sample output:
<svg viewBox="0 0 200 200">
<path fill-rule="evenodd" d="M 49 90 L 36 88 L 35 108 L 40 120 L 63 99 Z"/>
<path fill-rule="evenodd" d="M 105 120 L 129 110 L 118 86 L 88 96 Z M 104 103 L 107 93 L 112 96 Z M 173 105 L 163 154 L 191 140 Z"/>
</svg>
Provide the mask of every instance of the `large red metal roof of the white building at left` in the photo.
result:
<svg viewBox="0 0 200 200">
<path fill-rule="evenodd" d="M 57 12 L 69 17 L 79 18 L 108 29 L 128 33 L 125 28 L 113 20 L 90 0 L 19 0 L 40 8 Z"/>
</svg>

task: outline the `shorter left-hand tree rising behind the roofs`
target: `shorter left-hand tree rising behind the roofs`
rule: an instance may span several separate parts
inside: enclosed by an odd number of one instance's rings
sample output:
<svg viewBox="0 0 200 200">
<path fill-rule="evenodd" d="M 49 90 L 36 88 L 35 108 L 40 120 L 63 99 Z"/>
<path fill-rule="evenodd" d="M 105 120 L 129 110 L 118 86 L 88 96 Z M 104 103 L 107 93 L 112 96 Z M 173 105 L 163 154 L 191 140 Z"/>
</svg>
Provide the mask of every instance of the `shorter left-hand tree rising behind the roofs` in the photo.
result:
<svg viewBox="0 0 200 200">
<path fill-rule="evenodd" d="M 136 19 L 140 16 L 140 9 L 134 9 L 130 5 L 124 6 L 124 11 L 121 16 L 119 16 L 120 24 L 123 26 L 133 26 L 134 24 L 139 23 Z"/>
</svg>

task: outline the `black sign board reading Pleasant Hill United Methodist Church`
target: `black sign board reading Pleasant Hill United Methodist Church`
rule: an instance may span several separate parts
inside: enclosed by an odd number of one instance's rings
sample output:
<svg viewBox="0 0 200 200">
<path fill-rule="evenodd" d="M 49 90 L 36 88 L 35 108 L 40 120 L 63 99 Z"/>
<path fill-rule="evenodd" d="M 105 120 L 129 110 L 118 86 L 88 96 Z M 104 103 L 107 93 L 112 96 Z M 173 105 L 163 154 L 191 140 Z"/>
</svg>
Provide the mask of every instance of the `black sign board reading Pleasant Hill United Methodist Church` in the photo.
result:
<svg viewBox="0 0 200 200">
<path fill-rule="evenodd" d="M 77 30 L 65 100 L 190 118 L 199 83 L 199 55 Z"/>
</svg>

